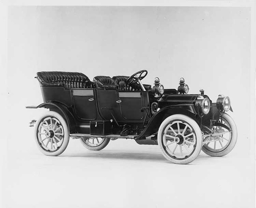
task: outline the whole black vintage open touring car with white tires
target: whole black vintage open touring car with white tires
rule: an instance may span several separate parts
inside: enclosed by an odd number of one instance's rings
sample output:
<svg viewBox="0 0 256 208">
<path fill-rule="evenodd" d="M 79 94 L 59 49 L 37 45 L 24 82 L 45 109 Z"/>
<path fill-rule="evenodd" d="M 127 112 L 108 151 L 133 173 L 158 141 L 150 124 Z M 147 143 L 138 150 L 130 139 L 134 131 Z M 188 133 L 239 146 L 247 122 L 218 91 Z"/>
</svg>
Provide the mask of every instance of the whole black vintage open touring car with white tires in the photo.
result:
<svg viewBox="0 0 256 208">
<path fill-rule="evenodd" d="M 187 164 L 200 151 L 210 156 L 228 154 L 235 146 L 237 128 L 226 113 L 230 98 L 219 95 L 213 103 L 204 90 L 188 94 L 184 78 L 178 89 L 164 89 L 158 77 L 154 86 L 143 84 L 147 70 L 132 76 L 96 76 L 83 73 L 41 71 L 37 80 L 43 103 L 26 108 L 47 108 L 35 124 L 35 141 L 42 153 L 57 156 L 70 137 L 89 150 L 102 150 L 110 140 L 134 139 L 156 144 L 163 156 Z"/>
</svg>

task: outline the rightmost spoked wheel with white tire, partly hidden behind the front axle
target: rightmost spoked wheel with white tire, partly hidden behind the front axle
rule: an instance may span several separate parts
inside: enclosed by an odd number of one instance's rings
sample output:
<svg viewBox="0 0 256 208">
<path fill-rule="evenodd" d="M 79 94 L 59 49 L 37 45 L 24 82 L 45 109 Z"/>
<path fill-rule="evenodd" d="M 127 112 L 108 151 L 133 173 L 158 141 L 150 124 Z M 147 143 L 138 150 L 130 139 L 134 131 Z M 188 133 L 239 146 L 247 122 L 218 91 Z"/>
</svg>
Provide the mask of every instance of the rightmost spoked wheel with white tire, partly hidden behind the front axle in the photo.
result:
<svg viewBox="0 0 256 208">
<path fill-rule="evenodd" d="M 228 126 L 231 131 L 222 126 L 214 126 L 213 133 L 223 133 L 206 142 L 202 151 L 213 157 L 221 157 L 233 150 L 237 140 L 237 128 L 234 120 L 226 113 L 223 114 L 222 123 Z"/>
</svg>

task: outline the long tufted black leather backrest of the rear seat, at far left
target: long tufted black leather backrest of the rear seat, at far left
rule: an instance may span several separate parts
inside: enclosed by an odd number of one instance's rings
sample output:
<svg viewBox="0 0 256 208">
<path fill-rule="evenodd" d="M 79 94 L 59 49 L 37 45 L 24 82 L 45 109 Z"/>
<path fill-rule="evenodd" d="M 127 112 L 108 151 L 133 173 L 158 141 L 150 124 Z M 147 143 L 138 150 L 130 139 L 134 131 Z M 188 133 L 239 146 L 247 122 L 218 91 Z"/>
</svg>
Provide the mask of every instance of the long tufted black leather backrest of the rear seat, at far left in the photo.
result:
<svg viewBox="0 0 256 208">
<path fill-rule="evenodd" d="M 35 77 L 41 86 L 65 86 L 65 88 L 94 88 L 95 83 L 83 73 L 65 71 L 41 71 Z"/>
</svg>

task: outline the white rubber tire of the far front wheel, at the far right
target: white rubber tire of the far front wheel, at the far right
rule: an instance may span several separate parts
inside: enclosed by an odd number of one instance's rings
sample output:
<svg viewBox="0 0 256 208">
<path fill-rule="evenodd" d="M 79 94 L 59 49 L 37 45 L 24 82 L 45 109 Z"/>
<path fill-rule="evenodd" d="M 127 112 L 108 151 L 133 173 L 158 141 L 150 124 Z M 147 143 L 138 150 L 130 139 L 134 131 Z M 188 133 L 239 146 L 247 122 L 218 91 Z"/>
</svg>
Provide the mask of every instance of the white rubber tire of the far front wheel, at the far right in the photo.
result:
<svg viewBox="0 0 256 208">
<path fill-rule="evenodd" d="M 230 117 L 230 115 L 228 115 L 226 113 L 224 113 L 223 118 L 228 122 L 228 124 L 232 130 L 232 137 L 231 137 L 231 140 L 230 140 L 230 143 L 228 144 L 228 146 L 224 150 L 221 150 L 219 152 L 213 152 L 213 151 L 208 150 L 205 147 L 206 145 L 202 146 L 202 151 L 212 157 L 222 157 L 222 156 L 230 153 L 230 151 L 233 150 L 234 146 L 236 145 L 236 141 L 237 141 L 236 124 L 235 124 L 234 120 Z"/>
</svg>

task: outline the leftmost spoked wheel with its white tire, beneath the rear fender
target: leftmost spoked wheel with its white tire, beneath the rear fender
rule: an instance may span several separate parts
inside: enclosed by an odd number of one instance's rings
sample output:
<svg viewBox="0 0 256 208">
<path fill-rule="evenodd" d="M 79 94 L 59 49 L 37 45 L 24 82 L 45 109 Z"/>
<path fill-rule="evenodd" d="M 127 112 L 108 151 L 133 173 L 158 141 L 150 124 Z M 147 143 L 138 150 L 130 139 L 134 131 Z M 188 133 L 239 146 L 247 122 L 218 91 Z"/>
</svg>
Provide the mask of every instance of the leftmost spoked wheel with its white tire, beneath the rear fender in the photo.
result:
<svg viewBox="0 0 256 208">
<path fill-rule="evenodd" d="M 69 128 L 66 120 L 59 113 L 46 112 L 35 123 L 35 140 L 43 154 L 60 155 L 69 144 Z"/>
</svg>

